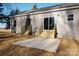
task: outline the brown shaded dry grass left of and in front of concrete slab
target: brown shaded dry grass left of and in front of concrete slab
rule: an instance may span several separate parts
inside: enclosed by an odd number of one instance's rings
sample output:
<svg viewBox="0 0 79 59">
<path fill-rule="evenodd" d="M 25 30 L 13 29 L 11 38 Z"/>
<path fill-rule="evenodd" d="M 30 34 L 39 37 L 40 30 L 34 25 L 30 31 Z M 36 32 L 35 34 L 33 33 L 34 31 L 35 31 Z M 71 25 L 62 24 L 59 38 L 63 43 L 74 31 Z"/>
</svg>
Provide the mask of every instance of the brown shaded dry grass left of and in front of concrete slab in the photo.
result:
<svg viewBox="0 0 79 59">
<path fill-rule="evenodd" d="M 9 33 L 0 34 L 3 40 L 0 40 L 0 55 L 1 56 L 41 56 L 41 55 L 55 55 L 55 53 L 51 53 L 48 51 L 13 45 L 12 43 L 25 40 L 27 36 L 16 36 Z"/>
</svg>

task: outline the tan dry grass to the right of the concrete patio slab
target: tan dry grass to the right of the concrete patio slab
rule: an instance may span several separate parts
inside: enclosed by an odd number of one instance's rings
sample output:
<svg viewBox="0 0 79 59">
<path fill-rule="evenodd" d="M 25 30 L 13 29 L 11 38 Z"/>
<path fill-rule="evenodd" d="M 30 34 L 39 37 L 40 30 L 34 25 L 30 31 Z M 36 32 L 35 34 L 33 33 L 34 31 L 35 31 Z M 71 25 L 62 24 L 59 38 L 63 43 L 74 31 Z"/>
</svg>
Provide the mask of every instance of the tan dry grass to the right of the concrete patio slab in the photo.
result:
<svg viewBox="0 0 79 59">
<path fill-rule="evenodd" d="M 74 39 L 63 38 L 56 55 L 79 56 L 79 44 Z"/>
</svg>

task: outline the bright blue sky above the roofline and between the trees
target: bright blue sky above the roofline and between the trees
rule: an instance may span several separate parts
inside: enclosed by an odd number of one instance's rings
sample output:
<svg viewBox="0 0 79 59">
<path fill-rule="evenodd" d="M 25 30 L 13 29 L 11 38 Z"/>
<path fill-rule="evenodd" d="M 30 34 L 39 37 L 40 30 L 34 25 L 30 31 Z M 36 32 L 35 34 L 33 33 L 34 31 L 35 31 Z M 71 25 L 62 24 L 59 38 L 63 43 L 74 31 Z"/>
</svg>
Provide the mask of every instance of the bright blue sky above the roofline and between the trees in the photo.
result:
<svg viewBox="0 0 79 59">
<path fill-rule="evenodd" d="M 8 8 L 9 9 L 16 9 L 18 8 L 20 11 L 25 11 L 25 10 L 30 10 L 32 9 L 32 6 L 35 3 L 10 3 L 8 4 Z M 58 5 L 59 3 L 36 3 L 37 8 L 41 8 L 41 7 L 48 7 L 48 6 L 54 6 L 54 5 Z M 4 14 L 8 14 L 10 11 L 7 10 L 7 8 L 4 7 Z M 5 28 L 6 24 L 1 24 L 0 23 L 0 28 Z"/>
</svg>

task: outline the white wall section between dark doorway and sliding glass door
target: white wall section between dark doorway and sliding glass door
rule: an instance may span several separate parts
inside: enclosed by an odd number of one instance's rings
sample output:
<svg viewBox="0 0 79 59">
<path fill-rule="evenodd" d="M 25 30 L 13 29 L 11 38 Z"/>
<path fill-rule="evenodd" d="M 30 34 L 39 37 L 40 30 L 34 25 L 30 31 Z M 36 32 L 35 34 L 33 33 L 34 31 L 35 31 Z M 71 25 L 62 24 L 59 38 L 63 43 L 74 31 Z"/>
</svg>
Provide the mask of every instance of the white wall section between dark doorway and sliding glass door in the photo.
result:
<svg viewBox="0 0 79 59">
<path fill-rule="evenodd" d="M 30 18 L 31 18 L 31 24 L 32 24 L 32 31 L 39 32 L 40 27 L 41 26 L 44 27 L 44 18 L 46 17 L 52 17 L 52 13 L 31 15 Z"/>
</svg>

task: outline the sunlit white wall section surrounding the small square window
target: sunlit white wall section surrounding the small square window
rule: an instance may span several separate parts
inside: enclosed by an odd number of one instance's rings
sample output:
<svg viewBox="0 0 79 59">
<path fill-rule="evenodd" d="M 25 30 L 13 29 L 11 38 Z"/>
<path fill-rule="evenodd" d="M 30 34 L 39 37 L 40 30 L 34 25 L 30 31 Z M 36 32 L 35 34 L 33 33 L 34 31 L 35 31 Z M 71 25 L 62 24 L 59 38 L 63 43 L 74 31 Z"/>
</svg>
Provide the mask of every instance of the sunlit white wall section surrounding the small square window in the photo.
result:
<svg viewBox="0 0 79 59">
<path fill-rule="evenodd" d="M 68 21 L 68 14 L 73 14 L 74 20 Z M 54 12 L 53 15 L 57 24 L 58 37 L 79 38 L 79 9 Z"/>
</svg>

